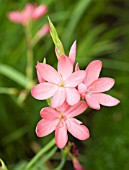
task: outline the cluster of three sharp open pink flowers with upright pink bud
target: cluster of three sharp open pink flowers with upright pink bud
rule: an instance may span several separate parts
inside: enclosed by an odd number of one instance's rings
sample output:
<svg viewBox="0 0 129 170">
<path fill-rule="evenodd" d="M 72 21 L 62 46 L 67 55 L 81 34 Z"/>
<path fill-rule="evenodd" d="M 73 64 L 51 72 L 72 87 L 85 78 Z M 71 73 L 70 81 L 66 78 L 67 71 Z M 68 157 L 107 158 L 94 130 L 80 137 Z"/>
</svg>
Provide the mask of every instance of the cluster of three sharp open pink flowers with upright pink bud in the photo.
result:
<svg viewBox="0 0 129 170">
<path fill-rule="evenodd" d="M 95 60 L 85 70 L 80 70 L 76 64 L 74 70 L 75 57 L 76 42 L 69 56 L 58 53 L 57 70 L 44 63 L 36 66 L 39 84 L 33 87 L 32 96 L 38 100 L 50 98 L 50 107 L 40 112 L 42 120 L 37 124 L 36 133 L 43 137 L 55 130 L 59 148 L 63 148 L 68 141 L 67 131 L 80 140 L 89 138 L 88 128 L 74 118 L 88 106 L 99 110 L 100 105 L 115 106 L 119 103 L 114 97 L 102 93 L 114 85 L 112 78 L 99 78 L 102 62 Z"/>
</svg>

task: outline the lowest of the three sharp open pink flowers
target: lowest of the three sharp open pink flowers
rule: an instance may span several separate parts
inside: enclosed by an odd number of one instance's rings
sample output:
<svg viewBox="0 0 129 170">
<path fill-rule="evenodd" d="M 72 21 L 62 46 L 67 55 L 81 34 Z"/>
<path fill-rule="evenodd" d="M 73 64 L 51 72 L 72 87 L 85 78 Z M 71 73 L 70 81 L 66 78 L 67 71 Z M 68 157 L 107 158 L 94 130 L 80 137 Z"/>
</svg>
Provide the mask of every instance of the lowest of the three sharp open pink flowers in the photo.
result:
<svg viewBox="0 0 129 170">
<path fill-rule="evenodd" d="M 89 130 L 82 122 L 73 118 L 87 108 L 87 104 L 79 101 L 76 105 L 70 106 L 66 102 L 56 110 L 52 107 L 43 108 L 40 112 L 42 120 L 36 127 L 36 134 L 39 137 L 47 136 L 55 130 L 55 140 L 59 148 L 65 147 L 68 141 L 67 130 L 77 139 L 86 140 L 89 138 Z"/>
</svg>

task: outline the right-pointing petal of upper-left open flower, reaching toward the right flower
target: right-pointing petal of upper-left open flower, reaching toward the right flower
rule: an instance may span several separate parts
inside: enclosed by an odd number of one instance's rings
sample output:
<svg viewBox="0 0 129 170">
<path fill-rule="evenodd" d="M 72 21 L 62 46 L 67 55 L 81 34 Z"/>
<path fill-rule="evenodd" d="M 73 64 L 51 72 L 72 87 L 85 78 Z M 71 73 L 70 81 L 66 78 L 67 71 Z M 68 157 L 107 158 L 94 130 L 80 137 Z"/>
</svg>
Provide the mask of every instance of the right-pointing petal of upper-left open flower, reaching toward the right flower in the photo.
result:
<svg viewBox="0 0 129 170">
<path fill-rule="evenodd" d="M 85 78 L 85 71 L 76 71 L 71 74 L 71 76 L 65 81 L 66 87 L 76 87 L 78 84 L 82 83 Z"/>
</svg>

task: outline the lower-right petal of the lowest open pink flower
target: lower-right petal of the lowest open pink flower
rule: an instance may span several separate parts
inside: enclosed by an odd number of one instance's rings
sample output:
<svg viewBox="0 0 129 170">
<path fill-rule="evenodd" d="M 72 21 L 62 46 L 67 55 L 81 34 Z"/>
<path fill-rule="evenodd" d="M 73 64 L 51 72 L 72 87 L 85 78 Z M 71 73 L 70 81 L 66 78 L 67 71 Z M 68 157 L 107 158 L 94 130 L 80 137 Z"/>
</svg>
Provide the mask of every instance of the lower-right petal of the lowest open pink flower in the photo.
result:
<svg viewBox="0 0 129 170">
<path fill-rule="evenodd" d="M 75 118 L 69 118 L 67 121 L 68 131 L 79 140 L 86 140 L 89 138 L 90 133 L 86 126 L 77 123 Z"/>
</svg>

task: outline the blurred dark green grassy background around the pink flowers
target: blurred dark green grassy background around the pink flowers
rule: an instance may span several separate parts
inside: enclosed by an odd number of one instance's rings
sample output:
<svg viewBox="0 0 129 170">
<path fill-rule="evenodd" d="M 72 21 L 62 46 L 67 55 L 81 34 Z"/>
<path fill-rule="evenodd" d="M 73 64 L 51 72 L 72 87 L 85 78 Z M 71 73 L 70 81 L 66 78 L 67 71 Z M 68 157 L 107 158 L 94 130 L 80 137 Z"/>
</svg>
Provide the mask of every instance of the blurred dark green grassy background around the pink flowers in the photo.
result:
<svg viewBox="0 0 129 170">
<path fill-rule="evenodd" d="M 76 62 L 80 67 L 85 69 L 89 62 L 100 59 L 103 61 L 101 77 L 112 77 L 116 81 L 108 94 L 121 101 L 118 106 L 102 107 L 100 111 L 88 109 L 79 116 L 90 129 L 90 139 L 78 141 L 69 135 L 80 150 L 81 164 L 87 170 L 129 169 L 128 0 L 0 0 L 0 157 L 9 169 L 22 170 L 24 164 L 54 136 L 53 133 L 38 138 L 35 134 L 39 112 L 47 106 L 45 101 L 35 100 L 29 92 L 22 104 L 19 102 L 25 92 L 24 80 L 21 75 L 19 80 L 16 77 L 19 72 L 25 75 L 27 47 L 22 25 L 9 21 L 7 13 L 23 9 L 28 2 L 48 6 L 47 14 L 33 23 L 33 34 L 48 23 L 48 15 L 67 55 L 77 40 Z M 34 66 L 44 57 L 48 64 L 56 66 L 50 35 L 34 47 Z M 10 68 L 13 68 L 11 75 Z M 34 75 L 37 81 L 35 69 Z M 60 156 L 54 156 L 41 169 L 56 167 L 59 161 Z M 73 169 L 70 160 L 66 161 L 65 169 Z"/>
</svg>

